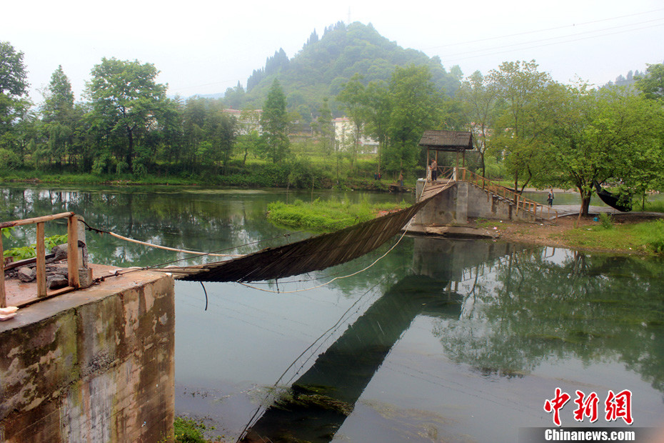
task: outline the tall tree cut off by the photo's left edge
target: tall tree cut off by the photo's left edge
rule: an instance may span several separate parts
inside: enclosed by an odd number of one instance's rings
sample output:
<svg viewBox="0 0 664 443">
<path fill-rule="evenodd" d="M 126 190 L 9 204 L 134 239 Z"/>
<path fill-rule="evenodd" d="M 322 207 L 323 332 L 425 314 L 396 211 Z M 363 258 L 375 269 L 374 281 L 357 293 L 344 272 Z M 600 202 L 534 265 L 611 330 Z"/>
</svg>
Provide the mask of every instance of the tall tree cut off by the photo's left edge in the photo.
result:
<svg viewBox="0 0 664 443">
<path fill-rule="evenodd" d="M 16 145 L 16 134 L 11 129 L 29 109 L 30 103 L 24 98 L 28 86 L 23 52 L 16 51 L 7 41 L 0 41 L 0 149 Z"/>
</svg>

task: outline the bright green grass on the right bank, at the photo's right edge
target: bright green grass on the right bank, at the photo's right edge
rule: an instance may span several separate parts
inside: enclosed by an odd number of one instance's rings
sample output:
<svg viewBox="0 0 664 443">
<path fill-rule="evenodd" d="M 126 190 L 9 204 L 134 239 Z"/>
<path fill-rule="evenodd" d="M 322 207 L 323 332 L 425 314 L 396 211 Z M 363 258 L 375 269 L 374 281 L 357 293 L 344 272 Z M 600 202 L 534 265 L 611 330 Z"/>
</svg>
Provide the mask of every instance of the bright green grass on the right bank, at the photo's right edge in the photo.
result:
<svg viewBox="0 0 664 443">
<path fill-rule="evenodd" d="M 664 254 L 664 220 L 572 229 L 560 237 L 570 247 Z"/>
</svg>

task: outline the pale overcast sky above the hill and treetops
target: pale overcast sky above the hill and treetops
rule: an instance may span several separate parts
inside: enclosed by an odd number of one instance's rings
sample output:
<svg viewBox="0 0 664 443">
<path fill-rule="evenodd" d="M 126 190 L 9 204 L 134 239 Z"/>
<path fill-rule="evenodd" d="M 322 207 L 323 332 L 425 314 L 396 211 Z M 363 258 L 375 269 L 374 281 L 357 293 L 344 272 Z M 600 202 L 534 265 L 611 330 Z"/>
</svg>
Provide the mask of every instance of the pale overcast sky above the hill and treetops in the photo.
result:
<svg viewBox="0 0 664 443">
<path fill-rule="evenodd" d="M 24 52 L 31 98 L 59 64 L 81 98 L 102 57 L 152 63 L 186 97 L 246 86 L 283 48 L 297 54 L 316 29 L 360 21 L 404 48 L 438 55 L 465 75 L 535 59 L 555 80 L 605 84 L 664 61 L 662 0 L 558 1 L 6 1 L 0 41 Z"/>
</svg>

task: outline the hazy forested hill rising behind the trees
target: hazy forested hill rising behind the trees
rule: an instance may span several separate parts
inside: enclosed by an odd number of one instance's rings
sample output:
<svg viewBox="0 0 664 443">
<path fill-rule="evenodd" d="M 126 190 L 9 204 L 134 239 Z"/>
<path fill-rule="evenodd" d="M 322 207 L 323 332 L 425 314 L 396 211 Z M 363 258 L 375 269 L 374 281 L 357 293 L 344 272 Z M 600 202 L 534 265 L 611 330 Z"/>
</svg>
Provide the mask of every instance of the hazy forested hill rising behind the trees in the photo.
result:
<svg viewBox="0 0 664 443">
<path fill-rule="evenodd" d="M 339 22 L 326 28 L 321 38 L 313 31 L 292 59 L 283 49 L 276 51 L 263 68 L 253 71 L 246 89 L 240 85 L 228 89 L 225 101 L 235 109 L 261 108 L 273 80 L 278 79 L 288 109 L 298 111 L 306 119 L 316 115 L 323 99 L 333 99 L 354 74 L 363 76 L 366 83 L 389 81 L 395 66 L 410 64 L 428 66 L 433 83 L 448 96 L 458 89 L 458 67 L 448 72 L 437 56 L 430 58 L 421 51 L 403 49 L 378 34 L 371 24 L 355 22 L 346 26 Z M 332 100 L 330 107 L 334 115 L 342 114 L 336 101 Z"/>
</svg>

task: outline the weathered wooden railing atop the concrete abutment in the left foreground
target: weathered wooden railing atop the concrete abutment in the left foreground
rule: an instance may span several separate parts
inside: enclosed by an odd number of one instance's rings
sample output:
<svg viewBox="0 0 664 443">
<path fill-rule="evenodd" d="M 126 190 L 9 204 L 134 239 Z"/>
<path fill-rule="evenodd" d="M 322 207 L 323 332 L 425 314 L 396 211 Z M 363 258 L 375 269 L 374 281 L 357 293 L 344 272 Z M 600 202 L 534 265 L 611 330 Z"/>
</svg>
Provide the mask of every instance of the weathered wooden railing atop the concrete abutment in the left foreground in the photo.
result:
<svg viewBox="0 0 664 443">
<path fill-rule="evenodd" d="M 44 223 L 57 219 L 67 219 L 67 271 L 69 274 L 69 286 L 58 289 L 53 292 L 46 290 L 46 247 L 44 246 Z M 74 212 L 62 212 L 61 214 L 35 217 L 33 219 L 23 219 L 14 221 L 3 221 L 0 223 L 0 229 L 24 226 L 26 224 L 37 225 L 36 242 L 36 268 L 37 268 L 37 297 L 52 297 L 54 295 L 64 294 L 81 286 L 79 279 L 79 231 L 78 217 Z M 0 257 L 4 256 L 2 247 L 2 236 L 0 235 Z M 4 257 L 0 262 L 0 308 L 7 307 L 6 290 L 4 285 Z"/>
</svg>

